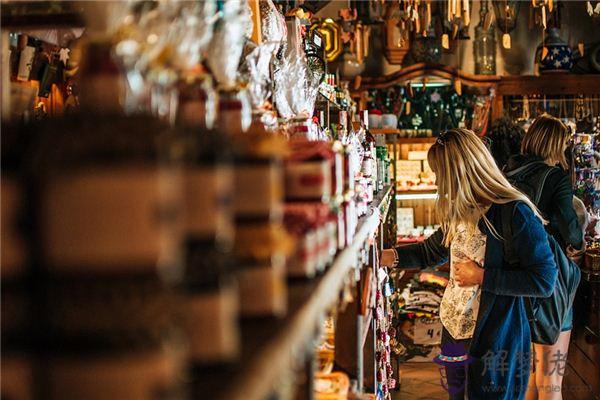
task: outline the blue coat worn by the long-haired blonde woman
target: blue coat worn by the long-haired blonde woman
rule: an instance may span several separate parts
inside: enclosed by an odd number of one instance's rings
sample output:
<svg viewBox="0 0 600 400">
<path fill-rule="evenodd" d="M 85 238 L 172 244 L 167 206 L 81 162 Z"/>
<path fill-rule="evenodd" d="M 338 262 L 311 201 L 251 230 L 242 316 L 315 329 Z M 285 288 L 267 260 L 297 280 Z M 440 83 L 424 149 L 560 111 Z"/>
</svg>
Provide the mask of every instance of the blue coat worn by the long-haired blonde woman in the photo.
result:
<svg viewBox="0 0 600 400">
<path fill-rule="evenodd" d="M 500 236 L 501 207 L 504 206 L 492 205 L 486 213 Z M 525 203 L 517 203 L 514 210 L 517 269 L 511 269 L 504 259 L 501 239 L 490 232 L 483 220 L 479 223 L 481 232 L 487 236 L 485 273 L 469 354 L 476 362 L 492 355 L 499 355 L 502 360 L 501 368 L 485 368 L 479 382 L 469 383 L 470 399 L 513 400 L 524 396 L 529 378 L 531 333 L 523 297 L 548 297 L 556 283 L 557 268 L 542 222 Z M 426 268 L 446 262 L 449 249 L 442 243 L 443 233 L 438 230 L 423 243 L 398 247 L 398 266 Z"/>
</svg>

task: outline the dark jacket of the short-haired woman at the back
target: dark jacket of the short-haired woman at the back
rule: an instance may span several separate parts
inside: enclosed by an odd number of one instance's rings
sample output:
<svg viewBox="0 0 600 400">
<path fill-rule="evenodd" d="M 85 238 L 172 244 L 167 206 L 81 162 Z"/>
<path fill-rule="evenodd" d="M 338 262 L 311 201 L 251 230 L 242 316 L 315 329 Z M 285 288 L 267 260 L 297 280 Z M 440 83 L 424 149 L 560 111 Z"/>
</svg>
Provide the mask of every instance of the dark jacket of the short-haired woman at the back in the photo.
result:
<svg viewBox="0 0 600 400">
<path fill-rule="evenodd" d="M 526 164 L 542 161 L 541 158 L 530 155 L 519 154 L 508 160 L 505 173 L 509 173 Z M 546 230 L 556 239 L 563 250 L 568 245 L 575 249 L 581 249 L 583 245 L 583 232 L 577 220 L 577 214 L 573 208 L 573 187 L 569 175 L 560 167 L 552 168 L 542 188 L 542 195 L 538 209 L 548 220 Z"/>
</svg>

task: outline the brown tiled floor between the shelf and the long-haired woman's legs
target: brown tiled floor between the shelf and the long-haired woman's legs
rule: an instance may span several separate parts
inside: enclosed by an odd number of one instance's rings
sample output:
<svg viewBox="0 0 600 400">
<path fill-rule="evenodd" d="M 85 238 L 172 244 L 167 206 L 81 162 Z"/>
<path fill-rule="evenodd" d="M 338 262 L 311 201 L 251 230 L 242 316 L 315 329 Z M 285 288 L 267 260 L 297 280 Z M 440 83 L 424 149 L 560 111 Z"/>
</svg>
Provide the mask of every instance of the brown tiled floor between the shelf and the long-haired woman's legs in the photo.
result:
<svg viewBox="0 0 600 400">
<path fill-rule="evenodd" d="M 448 394 L 440 383 L 438 365 L 434 363 L 400 364 L 402 384 L 394 400 L 445 400 Z"/>
</svg>

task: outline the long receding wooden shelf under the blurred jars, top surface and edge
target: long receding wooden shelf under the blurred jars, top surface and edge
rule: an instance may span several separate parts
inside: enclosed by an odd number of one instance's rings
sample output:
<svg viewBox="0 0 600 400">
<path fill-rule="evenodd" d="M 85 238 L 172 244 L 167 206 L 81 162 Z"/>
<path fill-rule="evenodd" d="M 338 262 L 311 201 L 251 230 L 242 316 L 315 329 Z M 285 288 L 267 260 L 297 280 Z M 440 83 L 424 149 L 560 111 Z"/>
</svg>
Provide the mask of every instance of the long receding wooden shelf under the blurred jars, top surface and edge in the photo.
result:
<svg viewBox="0 0 600 400">
<path fill-rule="evenodd" d="M 313 351 L 312 340 L 327 310 L 339 300 L 340 291 L 357 254 L 375 235 L 380 224 L 380 207 L 389 200 L 386 187 L 359 220 L 354 242 L 335 258 L 333 265 L 313 280 L 288 284 L 288 313 L 281 319 L 243 320 L 242 352 L 239 362 L 228 368 L 206 368 L 194 392 L 207 399 L 259 400 L 276 388 L 278 379 L 298 366 Z"/>
</svg>

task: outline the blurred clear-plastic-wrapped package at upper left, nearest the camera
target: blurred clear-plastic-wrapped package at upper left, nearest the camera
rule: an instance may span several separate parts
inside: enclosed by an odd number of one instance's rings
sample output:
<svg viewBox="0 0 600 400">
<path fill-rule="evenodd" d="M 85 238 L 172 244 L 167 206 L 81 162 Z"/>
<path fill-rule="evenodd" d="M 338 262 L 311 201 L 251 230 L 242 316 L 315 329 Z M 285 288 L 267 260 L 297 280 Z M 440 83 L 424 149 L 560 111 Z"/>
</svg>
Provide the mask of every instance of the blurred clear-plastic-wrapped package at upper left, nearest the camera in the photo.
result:
<svg viewBox="0 0 600 400">
<path fill-rule="evenodd" d="M 173 118 L 176 83 L 198 65 L 210 43 L 216 1 L 129 1 L 114 8 L 109 30 L 129 86 L 126 109 Z"/>
</svg>

